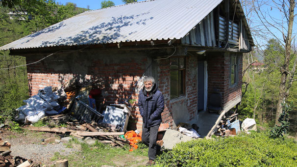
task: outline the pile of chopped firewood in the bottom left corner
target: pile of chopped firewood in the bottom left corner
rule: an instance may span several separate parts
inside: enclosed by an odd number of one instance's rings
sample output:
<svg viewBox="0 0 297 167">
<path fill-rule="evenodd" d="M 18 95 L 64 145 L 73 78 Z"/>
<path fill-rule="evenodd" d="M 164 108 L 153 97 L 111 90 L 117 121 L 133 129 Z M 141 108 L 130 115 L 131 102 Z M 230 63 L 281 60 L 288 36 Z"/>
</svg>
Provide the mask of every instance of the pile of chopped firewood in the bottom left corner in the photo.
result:
<svg viewBox="0 0 297 167">
<path fill-rule="evenodd" d="M 26 160 L 22 157 L 11 156 L 11 144 L 0 138 L 0 167 L 41 167 L 40 163 Z"/>
</svg>

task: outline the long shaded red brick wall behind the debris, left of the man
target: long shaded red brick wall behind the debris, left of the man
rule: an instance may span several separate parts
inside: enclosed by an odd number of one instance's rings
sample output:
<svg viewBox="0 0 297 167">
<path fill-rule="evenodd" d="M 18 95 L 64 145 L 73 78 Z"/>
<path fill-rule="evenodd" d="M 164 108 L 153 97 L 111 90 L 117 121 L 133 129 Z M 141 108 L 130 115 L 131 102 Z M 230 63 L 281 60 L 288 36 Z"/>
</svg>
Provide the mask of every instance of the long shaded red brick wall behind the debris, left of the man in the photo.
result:
<svg viewBox="0 0 297 167">
<path fill-rule="evenodd" d="M 67 83 L 89 83 L 99 80 L 102 90 L 102 100 L 106 104 L 123 103 L 125 99 L 138 100 L 138 94 L 133 91 L 135 83 L 141 78 L 148 65 L 147 56 L 133 53 L 125 56 L 94 55 L 80 53 L 76 55 L 52 56 L 42 62 L 28 65 L 29 95 L 35 95 L 45 86 L 61 87 Z M 116 54 L 115 54 L 116 55 Z M 40 56 L 27 56 L 27 63 L 38 60 Z M 56 61 L 59 59 L 59 61 Z M 88 59 L 86 62 L 85 59 Z M 81 70 L 80 70 L 81 69 Z M 135 89 L 134 89 L 135 90 Z M 137 110 L 132 111 L 130 129 L 141 129 L 142 117 Z M 137 123 L 136 123 L 137 122 Z"/>
</svg>

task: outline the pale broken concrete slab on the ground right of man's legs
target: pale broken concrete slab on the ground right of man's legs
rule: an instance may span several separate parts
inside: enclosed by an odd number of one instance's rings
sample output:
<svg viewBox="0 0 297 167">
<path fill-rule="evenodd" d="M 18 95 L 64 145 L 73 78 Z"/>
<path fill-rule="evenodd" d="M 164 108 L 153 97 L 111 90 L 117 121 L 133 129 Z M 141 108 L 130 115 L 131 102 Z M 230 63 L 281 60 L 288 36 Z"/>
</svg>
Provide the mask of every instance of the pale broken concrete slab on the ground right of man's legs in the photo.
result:
<svg viewBox="0 0 297 167">
<path fill-rule="evenodd" d="M 163 137 L 163 146 L 165 149 L 173 149 L 175 144 L 192 140 L 191 137 L 181 134 L 178 131 L 167 129 Z"/>
</svg>

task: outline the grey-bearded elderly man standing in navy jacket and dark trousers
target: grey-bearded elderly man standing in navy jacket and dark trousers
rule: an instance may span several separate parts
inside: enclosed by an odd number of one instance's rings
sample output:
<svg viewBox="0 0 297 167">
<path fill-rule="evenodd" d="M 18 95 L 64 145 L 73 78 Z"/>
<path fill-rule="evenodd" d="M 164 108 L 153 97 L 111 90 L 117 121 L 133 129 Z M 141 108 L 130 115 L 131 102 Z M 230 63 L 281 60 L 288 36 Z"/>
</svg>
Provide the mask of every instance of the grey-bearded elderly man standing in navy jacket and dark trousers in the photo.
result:
<svg viewBox="0 0 297 167">
<path fill-rule="evenodd" d="M 142 141 L 148 146 L 147 166 L 154 165 L 157 153 L 157 134 L 162 122 L 161 113 L 164 110 L 164 97 L 158 90 L 154 78 L 143 79 L 144 88 L 139 92 L 138 107 L 143 118 Z"/>
</svg>

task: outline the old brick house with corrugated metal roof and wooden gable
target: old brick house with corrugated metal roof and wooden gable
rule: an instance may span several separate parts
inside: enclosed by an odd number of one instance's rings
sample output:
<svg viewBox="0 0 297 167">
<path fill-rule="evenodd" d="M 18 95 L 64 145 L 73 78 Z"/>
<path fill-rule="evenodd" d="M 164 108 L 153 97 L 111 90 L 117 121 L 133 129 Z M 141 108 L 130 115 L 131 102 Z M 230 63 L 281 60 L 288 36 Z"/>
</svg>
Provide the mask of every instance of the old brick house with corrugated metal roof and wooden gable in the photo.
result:
<svg viewBox="0 0 297 167">
<path fill-rule="evenodd" d="M 123 103 L 138 99 L 143 75 L 153 76 L 166 102 L 163 122 L 197 123 L 205 136 L 219 117 L 206 112 L 215 89 L 223 111 L 241 102 L 242 55 L 253 45 L 239 0 L 147 0 L 86 11 L 0 50 L 32 63 L 31 96 L 98 80 L 106 103 Z M 141 126 L 136 109 L 129 127 Z"/>
</svg>

